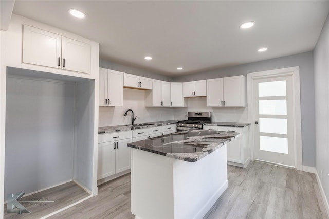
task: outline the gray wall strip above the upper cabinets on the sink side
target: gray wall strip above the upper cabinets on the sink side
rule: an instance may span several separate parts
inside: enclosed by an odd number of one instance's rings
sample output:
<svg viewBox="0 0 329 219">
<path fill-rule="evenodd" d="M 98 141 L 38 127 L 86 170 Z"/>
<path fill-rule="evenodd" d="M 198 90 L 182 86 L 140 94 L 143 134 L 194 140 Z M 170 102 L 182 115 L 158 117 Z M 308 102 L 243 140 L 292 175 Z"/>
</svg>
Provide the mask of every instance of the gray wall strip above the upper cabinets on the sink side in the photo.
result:
<svg viewBox="0 0 329 219">
<path fill-rule="evenodd" d="M 147 70 L 142 70 L 140 68 L 135 68 L 127 65 L 121 65 L 115 62 L 107 61 L 107 60 L 99 60 L 99 67 L 101 68 L 107 68 L 107 69 L 112 69 L 116 71 L 121 71 L 133 75 L 138 75 L 142 77 L 147 77 L 147 78 L 153 78 L 157 80 L 162 80 L 162 81 L 172 81 L 173 78 L 168 77 L 168 76 L 163 76 L 159 74 L 152 73 Z"/>
</svg>

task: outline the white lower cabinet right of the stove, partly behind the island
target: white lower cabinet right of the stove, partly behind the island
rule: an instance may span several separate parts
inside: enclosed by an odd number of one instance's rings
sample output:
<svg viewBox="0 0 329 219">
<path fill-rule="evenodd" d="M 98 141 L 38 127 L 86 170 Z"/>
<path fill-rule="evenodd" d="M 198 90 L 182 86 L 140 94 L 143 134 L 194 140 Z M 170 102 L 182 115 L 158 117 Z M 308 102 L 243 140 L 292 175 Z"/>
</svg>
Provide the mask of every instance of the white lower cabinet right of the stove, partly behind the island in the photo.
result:
<svg viewBox="0 0 329 219">
<path fill-rule="evenodd" d="M 227 163 L 238 167 L 247 167 L 250 162 L 249 126 L 227 127 L 204 125 L 204 130 L 239 132 L 241 136 L 227 143 Z"/>
</svg>

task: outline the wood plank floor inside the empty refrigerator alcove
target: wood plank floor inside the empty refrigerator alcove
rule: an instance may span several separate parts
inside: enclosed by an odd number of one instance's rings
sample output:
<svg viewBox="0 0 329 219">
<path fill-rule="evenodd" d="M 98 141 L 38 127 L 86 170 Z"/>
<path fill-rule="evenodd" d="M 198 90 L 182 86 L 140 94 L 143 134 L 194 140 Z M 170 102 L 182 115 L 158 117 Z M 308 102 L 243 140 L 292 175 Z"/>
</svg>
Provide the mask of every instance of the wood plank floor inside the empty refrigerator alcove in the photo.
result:
<svg viewBox="0 0 329 219">
<path fill-rule="evenodd" d="M 40 218 L 88 196 L 90 196 L 89 193 L 75 184 L 75 182 L 70 181 L 66 184 L 21 198 L 19 202 L 29 210 L 31 214 L 8 214 L 6 213 L 7 204 L 5 204 L 4 218 Z M 46 200 L 53 202 L 24 202 L 31 200 Z"/>
</svg>

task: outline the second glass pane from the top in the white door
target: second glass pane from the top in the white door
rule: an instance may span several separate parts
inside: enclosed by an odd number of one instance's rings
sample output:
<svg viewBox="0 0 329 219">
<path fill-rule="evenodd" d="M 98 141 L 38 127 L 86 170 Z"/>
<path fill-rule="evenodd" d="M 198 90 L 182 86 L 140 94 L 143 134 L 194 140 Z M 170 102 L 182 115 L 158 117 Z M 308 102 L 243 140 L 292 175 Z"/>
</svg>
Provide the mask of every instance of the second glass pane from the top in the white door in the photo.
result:
<svg viewBox="0 0 329 219">
<path fill-rule="evenodd" d="M 260 115 L 287 115 L 287 100 L 260 100 Z"/>
</svg>

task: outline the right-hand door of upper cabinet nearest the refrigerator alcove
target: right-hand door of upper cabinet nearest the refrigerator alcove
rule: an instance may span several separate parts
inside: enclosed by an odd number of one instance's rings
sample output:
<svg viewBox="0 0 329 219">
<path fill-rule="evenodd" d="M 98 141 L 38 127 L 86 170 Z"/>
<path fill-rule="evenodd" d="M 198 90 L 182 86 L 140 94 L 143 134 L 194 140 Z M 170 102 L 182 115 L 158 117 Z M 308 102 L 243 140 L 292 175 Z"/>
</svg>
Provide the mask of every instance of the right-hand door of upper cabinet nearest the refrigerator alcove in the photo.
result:
<svg viewBox="0 0 329 219">
<path fill-rule="evenodd" d="M 123 106 L 123 73 L 108 70 L 107 74 L 107 105 Z"/>
</svg>

